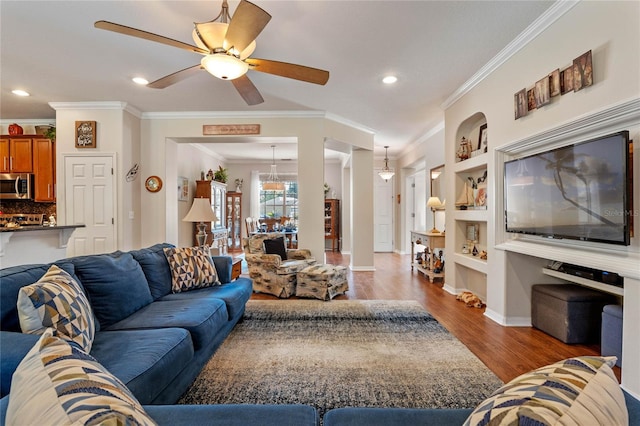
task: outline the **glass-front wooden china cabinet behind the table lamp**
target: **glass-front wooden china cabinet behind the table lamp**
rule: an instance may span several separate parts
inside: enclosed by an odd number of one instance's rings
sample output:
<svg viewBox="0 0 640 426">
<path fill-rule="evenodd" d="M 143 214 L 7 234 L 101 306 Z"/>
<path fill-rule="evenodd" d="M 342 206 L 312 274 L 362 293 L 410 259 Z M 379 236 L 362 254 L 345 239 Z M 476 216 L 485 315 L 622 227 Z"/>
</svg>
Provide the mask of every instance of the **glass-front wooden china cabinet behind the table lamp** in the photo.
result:
<svg viewBox="0 0 640 426">
<path fill-rule="evenodd" d="M 212 254 L 215 255 L 227 254 L 227 238 L 229 232 L 225 226 L 226 193 L 227 185 L 224 183 L 212 180 L 196 181 L 196 198 L 204 197 L 208 199 L 211 202 L 213 212 L 218 218 L 215 222 L 207 223 L 207 227 L 205 229 L 205 232 L 207 233 L 206 244 L 211 247 Z M 197 232 L 197 225 L 194 224 L 194 244 L 198 244 L 195 237 Z"/>
</svg>

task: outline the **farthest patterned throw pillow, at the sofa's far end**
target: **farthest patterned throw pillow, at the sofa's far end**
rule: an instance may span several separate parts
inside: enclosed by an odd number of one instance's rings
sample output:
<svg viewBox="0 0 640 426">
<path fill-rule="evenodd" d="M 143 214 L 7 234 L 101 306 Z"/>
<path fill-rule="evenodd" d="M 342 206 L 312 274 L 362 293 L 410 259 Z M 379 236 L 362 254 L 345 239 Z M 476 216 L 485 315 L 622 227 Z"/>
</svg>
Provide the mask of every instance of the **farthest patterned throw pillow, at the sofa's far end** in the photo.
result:
<svg viewBox="0 0 640 426">
<path fill-rule="evenodd" d="M 165 248 L 164 255 L 171 268 L 174 293 L 220 284 L 209 247 Z"/>
</svg>

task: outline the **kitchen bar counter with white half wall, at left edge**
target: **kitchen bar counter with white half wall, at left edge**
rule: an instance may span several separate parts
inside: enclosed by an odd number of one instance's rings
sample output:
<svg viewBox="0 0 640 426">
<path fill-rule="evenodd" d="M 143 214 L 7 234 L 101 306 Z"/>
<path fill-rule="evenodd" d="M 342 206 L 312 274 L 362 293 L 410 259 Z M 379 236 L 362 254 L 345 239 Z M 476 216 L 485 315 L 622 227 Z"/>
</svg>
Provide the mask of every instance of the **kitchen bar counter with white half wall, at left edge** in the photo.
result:
<svg viewBox="0 0 640 426">
<path fill-rule="evenodd" d="M 0 228 L 0 268 L 49 263 L 67 257 L 67 243 L 85 225 Z"/>
</svg>

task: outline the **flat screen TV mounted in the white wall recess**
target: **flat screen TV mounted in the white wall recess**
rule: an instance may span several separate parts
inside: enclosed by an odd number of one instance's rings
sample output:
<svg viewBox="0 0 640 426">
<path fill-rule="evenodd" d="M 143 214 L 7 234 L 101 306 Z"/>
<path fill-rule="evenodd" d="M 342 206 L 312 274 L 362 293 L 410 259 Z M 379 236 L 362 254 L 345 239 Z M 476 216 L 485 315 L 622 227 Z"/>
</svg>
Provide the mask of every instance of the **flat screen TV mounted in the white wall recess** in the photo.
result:
<svg viewBox="0 0 640 426">
<path fill-rule="evenodd" d="M 504 164 L 507 232 L 630 244 L 629 132 Z"/>
</svg>

